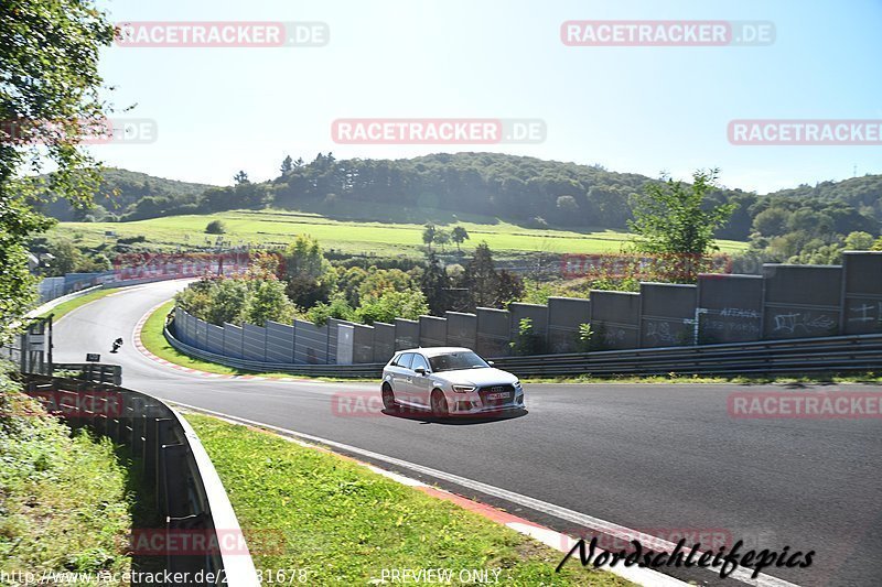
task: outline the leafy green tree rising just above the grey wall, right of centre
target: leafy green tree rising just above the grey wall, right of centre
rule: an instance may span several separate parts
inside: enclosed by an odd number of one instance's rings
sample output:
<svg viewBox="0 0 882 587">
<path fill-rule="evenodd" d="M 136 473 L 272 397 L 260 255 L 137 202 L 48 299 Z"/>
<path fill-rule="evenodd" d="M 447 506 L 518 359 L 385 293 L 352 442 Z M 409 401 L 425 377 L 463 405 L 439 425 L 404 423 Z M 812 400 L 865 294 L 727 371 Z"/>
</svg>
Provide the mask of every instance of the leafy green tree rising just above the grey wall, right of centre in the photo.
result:
<svg viewBox="0 0 882 587">
<path fill-rule="evenodd" d="M 634 220 L 628 221 L 635 233 L 637 251 L 670 256 L 678 265 L 673 274 L 677 281 L 695 281 L 704 257 L 717 249 L 714 231 L 723 226 L 735 204 L 707 207 L 709 194 L 717 188 L 718 170 L 696 171 L 692 185 L 667 180 L 649 183 L 642 195 L 634 197 Z"/>
</svg>

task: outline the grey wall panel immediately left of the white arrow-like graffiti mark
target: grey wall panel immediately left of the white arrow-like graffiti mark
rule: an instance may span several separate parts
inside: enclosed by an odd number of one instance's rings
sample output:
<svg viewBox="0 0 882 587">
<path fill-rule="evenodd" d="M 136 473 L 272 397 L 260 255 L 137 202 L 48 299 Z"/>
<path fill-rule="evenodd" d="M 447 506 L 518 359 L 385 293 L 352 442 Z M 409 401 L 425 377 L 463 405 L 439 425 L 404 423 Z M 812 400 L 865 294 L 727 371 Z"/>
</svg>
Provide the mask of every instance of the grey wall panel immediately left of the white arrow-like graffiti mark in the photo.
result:
<svg viewBox="0 0 882 587">
<path fill-rule="evenodd" d="M 695 285 L 641 283 L 642 347 L 695 344 L 697 290 Z"/>
</svg>

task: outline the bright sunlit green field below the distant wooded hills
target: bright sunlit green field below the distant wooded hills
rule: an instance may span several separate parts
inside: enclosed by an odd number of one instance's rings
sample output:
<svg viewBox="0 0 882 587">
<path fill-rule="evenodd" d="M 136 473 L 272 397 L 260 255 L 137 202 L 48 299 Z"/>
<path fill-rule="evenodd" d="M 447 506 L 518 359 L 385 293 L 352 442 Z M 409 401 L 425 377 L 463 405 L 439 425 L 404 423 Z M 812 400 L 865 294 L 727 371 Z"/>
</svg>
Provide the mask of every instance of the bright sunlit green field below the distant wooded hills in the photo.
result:
<svg viewBox="0 0 882 587">
<path fill-rule="evenodd" d="M 448 215 L 450 216 L 450 215 Z M 427 218 L 432 215 L 427 213 Z M 230 246 L 287 244 L 297 235 L 310 235 L 325 250 L 345 253 L 372 253 L 380 257 L 416 256 L 422 244 L 422 225 L 392 221 L 332 219 L 310 213 L 281 210 L 235 210 L 205 216 L 169 216 L 132 222 L 62 222 L 54 233 L 73 237 L 77 243 L 95 246 L 105 240 L 105 231 L 118 237 L 143 235 L 153 247 L 204 247 L 215 236 L 205 233 L 205 225 L 219 219 L 226 225 L 224 238 Z M 494 251 L 594 253 L 616 252 L 628 235 L 592 228 L 555 230 L 516 226 L 490 217 L 470 217 L 460 222 L 471 235 L 463 249 L 472 250 L 482 240 Z M 441 225 L 440 225 L 441 226 Z M 448 225 L 448 228 L 451 225 Z M 746 243 L 719 241 L 724 252 L 744 250 Z M 448 251 L 455 246 L 448 246 Z"/>
</svg>

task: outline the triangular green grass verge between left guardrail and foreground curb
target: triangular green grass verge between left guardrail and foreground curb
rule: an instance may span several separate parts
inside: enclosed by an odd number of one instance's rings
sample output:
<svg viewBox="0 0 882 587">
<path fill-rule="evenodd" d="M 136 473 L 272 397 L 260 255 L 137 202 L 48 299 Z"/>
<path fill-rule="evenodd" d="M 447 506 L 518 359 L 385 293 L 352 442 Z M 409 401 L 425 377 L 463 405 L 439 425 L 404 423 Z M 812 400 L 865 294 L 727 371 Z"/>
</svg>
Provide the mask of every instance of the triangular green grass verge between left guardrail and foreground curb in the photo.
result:
<svg viewBox="0 0 882 587">
<path fill-rule="evenodd" d="M 384 568 L 501 568 L 502 585 L 628 585 L 452 503 L 336 455 L 262 431 L 189 414 L 246 536 L 281 548 L 258 569 L 302 569 L 309 585 L 367 585 Z M 278 533 L 278 534 L 276 534 Z M 267 542 L 261 541 L 262 544 Z M 252 546 L 259 551 L 260 546 Z"/>
</svg>

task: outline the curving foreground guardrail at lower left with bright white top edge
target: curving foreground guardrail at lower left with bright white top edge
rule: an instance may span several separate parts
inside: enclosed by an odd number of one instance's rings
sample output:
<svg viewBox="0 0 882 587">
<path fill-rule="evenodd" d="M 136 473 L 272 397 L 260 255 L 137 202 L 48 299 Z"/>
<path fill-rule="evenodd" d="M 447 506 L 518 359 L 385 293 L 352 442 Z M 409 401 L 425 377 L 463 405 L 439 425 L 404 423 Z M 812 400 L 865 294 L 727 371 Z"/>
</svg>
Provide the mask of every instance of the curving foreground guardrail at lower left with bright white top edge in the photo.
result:
<svg viewBox="0 0 882 587">
<path fill-rule="evenodd" d="M 193 531 L 214 536 L 217 544 L 234 534 L 241 536 L 236 514 L 224 486 L 190 424 L 157 398 L 104 383 L 22 376 L 28 394 L 55 405 L 75 405 L 75 414 L 60 413 L 72 427 L 88 426 L 128 447 L 142 467 L 142 483 L 152 483 L 157 511 L 164 520 L 165 536 L 178 531 Z M 139 529 L 147 530 L 147 529 Z M 190 573 L 195 577 L 213 574 L 216 580 L 189 585 L 259 585 L 257 572 L 241 544 L 236 551 L 206 550 L 200 554 L 166 552 L 165 569 L 170 574 Z M 169 584 L 171 585 L 171 584 Z"/>
</svg>

